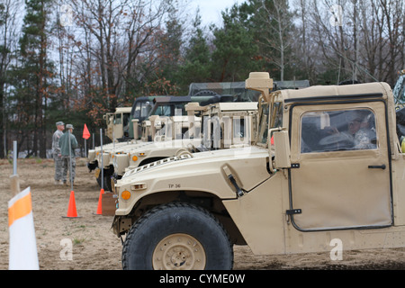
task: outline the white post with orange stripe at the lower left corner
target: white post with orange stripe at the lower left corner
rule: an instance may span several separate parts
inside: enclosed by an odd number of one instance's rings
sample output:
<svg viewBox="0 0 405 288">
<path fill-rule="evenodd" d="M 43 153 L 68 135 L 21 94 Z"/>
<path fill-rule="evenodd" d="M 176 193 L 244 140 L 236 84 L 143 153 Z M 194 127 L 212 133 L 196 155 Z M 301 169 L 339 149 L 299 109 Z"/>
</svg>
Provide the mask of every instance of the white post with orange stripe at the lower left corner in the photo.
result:
<svg viewBox="0 0 405 288">
<path fill-rule="evenodd" d="M 14 141 L 15 142 L 15 141 Z M 17 149 L 14 143 L 14 175 L 11 189 L 14 197 L 8 202 L 9 270 L 39 270 L 37 244 L 32 216 L 31 188 L 20 192 L 16 174 Z"/>
</svg>

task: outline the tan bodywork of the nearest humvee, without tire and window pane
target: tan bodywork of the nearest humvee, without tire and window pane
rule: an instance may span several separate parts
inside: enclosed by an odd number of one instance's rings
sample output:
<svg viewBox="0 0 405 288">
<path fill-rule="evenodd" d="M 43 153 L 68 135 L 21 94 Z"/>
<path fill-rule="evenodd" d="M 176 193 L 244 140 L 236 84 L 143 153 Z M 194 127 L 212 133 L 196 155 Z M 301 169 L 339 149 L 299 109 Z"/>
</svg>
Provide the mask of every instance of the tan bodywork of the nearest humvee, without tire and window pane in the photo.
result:
<svg viewBox="0 0 405 288">
<path fill-rule="evenodd" d="M 404 247 L 405 154 L 395 132 L 391 87 L 329 85 L 269 93 L 270 87 L 268 74 L 247 79 L 247 88 L 263 94 L 259 107 L 268 105 L 272 112 L 269 126 L 259 123 L 257 145 L 172 157 L 119 180 L 114 233 L 128 232 L 159 204 L 181 201 L 210 211 L 232 244 L 247 244 L 257 255 L 329 252 L 334 238 L 344 250 Z M 277 103 L 280 127 L 273 113 Z M 332 123 L 328 115 L 357 110 L 374 113 L 374 148 L 304 152 L 304 119 L 316 118 L 326 128 Z M 274 139 L 261 142 L 263 130 Z"/>
</svg>

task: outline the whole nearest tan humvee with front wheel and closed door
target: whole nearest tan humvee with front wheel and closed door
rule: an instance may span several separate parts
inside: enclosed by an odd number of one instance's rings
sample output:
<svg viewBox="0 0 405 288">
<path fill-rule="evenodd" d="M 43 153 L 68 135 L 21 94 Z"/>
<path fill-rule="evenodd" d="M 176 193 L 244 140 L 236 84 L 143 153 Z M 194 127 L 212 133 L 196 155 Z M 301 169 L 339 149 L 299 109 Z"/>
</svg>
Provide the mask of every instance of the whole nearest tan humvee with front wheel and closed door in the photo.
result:
<svg viewBox="0 0 405 288">
<path fill-rule="evenodd" d="M 116 184 L 124 269 L 230 269 L 256 255 L 405 246 L 405 154 L 385 83 L 261 91 L 256 145 L 174 158 Z"/>
</svg>

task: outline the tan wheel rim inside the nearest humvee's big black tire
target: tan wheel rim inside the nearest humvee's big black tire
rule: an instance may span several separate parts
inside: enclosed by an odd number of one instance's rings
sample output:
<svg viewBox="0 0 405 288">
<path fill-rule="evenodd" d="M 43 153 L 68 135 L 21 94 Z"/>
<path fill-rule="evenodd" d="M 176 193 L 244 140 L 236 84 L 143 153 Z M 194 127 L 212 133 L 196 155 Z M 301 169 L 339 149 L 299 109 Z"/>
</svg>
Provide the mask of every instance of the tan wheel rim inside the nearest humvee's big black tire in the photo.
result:
<svg viewBox="0 0 405 288">
<path fill-rule="evenodd" d="M 155 270 L 202 270 L 206 264 L 201 243 L 188 234 L 172 234 L 153 251 Z"/>
</svg>

